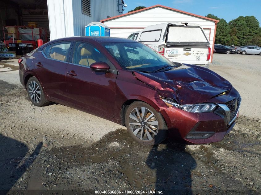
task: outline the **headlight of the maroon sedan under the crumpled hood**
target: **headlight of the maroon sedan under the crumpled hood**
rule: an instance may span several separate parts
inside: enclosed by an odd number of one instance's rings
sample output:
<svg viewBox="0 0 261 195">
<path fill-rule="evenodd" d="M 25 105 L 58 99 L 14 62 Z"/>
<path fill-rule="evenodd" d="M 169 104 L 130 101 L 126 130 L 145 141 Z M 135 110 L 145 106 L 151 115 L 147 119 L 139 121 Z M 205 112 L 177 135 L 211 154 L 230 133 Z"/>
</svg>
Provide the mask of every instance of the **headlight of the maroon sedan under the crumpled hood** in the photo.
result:
<svg viewBox="0 0 261 195">
<path fill-rule="evenodd" d="M 169 107 L 175 106 L 181 110 L 185 110 L 187 112 L 201 113 L 201 112 L 212 112 L 216 108 L 216 104 L 212 103 L 202 103 L 202 104 L 185 104 L 179 105 L 172 100 L 162 99 Z"/>
</svg>

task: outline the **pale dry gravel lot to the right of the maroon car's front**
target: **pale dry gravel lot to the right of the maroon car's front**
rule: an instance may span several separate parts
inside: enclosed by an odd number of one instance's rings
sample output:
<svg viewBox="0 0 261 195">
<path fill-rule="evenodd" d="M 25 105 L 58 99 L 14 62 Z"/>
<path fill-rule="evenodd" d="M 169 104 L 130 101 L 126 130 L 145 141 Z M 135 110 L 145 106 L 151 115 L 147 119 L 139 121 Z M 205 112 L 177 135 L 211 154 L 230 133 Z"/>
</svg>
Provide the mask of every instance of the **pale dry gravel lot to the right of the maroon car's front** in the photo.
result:
<svg viewBox="0 0 261 195">
<path fill-rule="evenodd" d="M 214 54 L 210 70 L 217 72 L 238 90 L 242 97 L 240 114 L 261 118 L 261 56 Z"/>
</svg>

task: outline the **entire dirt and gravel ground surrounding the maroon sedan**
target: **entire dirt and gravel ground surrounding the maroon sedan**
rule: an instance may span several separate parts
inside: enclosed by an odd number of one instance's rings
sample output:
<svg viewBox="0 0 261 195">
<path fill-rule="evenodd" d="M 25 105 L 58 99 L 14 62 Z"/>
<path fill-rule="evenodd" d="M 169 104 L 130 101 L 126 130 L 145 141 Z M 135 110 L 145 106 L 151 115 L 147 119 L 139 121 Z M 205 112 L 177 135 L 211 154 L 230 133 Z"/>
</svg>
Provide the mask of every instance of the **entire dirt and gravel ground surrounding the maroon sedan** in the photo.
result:
<svg viewBox="0 0 261 195">
<path fill-rule="evenodd" d="M 55 103 L 33 106 L 19 83 L 17 60 L 0 61 L 0 194 L 260 194 L 261 56 L 213 59 L 210 69 L 242 96 L 233 130 L 218 143 L 169 138 L 153 147 L 88 113 Z"/>
</svg>

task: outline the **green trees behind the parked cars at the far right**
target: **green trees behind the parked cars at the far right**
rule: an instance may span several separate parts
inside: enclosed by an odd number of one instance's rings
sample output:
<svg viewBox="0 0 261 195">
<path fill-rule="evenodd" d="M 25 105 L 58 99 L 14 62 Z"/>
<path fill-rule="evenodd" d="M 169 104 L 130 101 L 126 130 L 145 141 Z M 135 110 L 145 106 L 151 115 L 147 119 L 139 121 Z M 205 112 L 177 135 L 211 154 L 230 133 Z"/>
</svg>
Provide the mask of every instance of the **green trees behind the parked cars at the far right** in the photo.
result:
<svg viewBox="0 0 261 195">
<path fill-rule="evenodd" d="M 228 23 L 213 14 L 208 14 L 206 17 L 219 20 L 215 43 L 230 46 L 261 46 L 261 27 L 255 16 L 239 16 Z"/>
</svg>

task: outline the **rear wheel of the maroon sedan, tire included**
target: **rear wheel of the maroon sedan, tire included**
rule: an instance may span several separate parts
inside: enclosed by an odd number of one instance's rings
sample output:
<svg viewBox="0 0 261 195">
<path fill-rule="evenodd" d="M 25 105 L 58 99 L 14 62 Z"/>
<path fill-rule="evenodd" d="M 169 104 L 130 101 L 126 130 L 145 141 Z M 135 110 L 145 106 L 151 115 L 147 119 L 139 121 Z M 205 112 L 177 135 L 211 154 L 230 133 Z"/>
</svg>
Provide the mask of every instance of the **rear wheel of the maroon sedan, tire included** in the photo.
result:
<svg viewBox="0 0 261 195">
<path fill-rule="evenodd" d="M 29 99 L 35 106 L 41 107 L 50 104 L 50 101 L 45 100 L 43 88 L 36 77 L 33 76 L 28 80 L 26 88 Z"/>
</svg>

